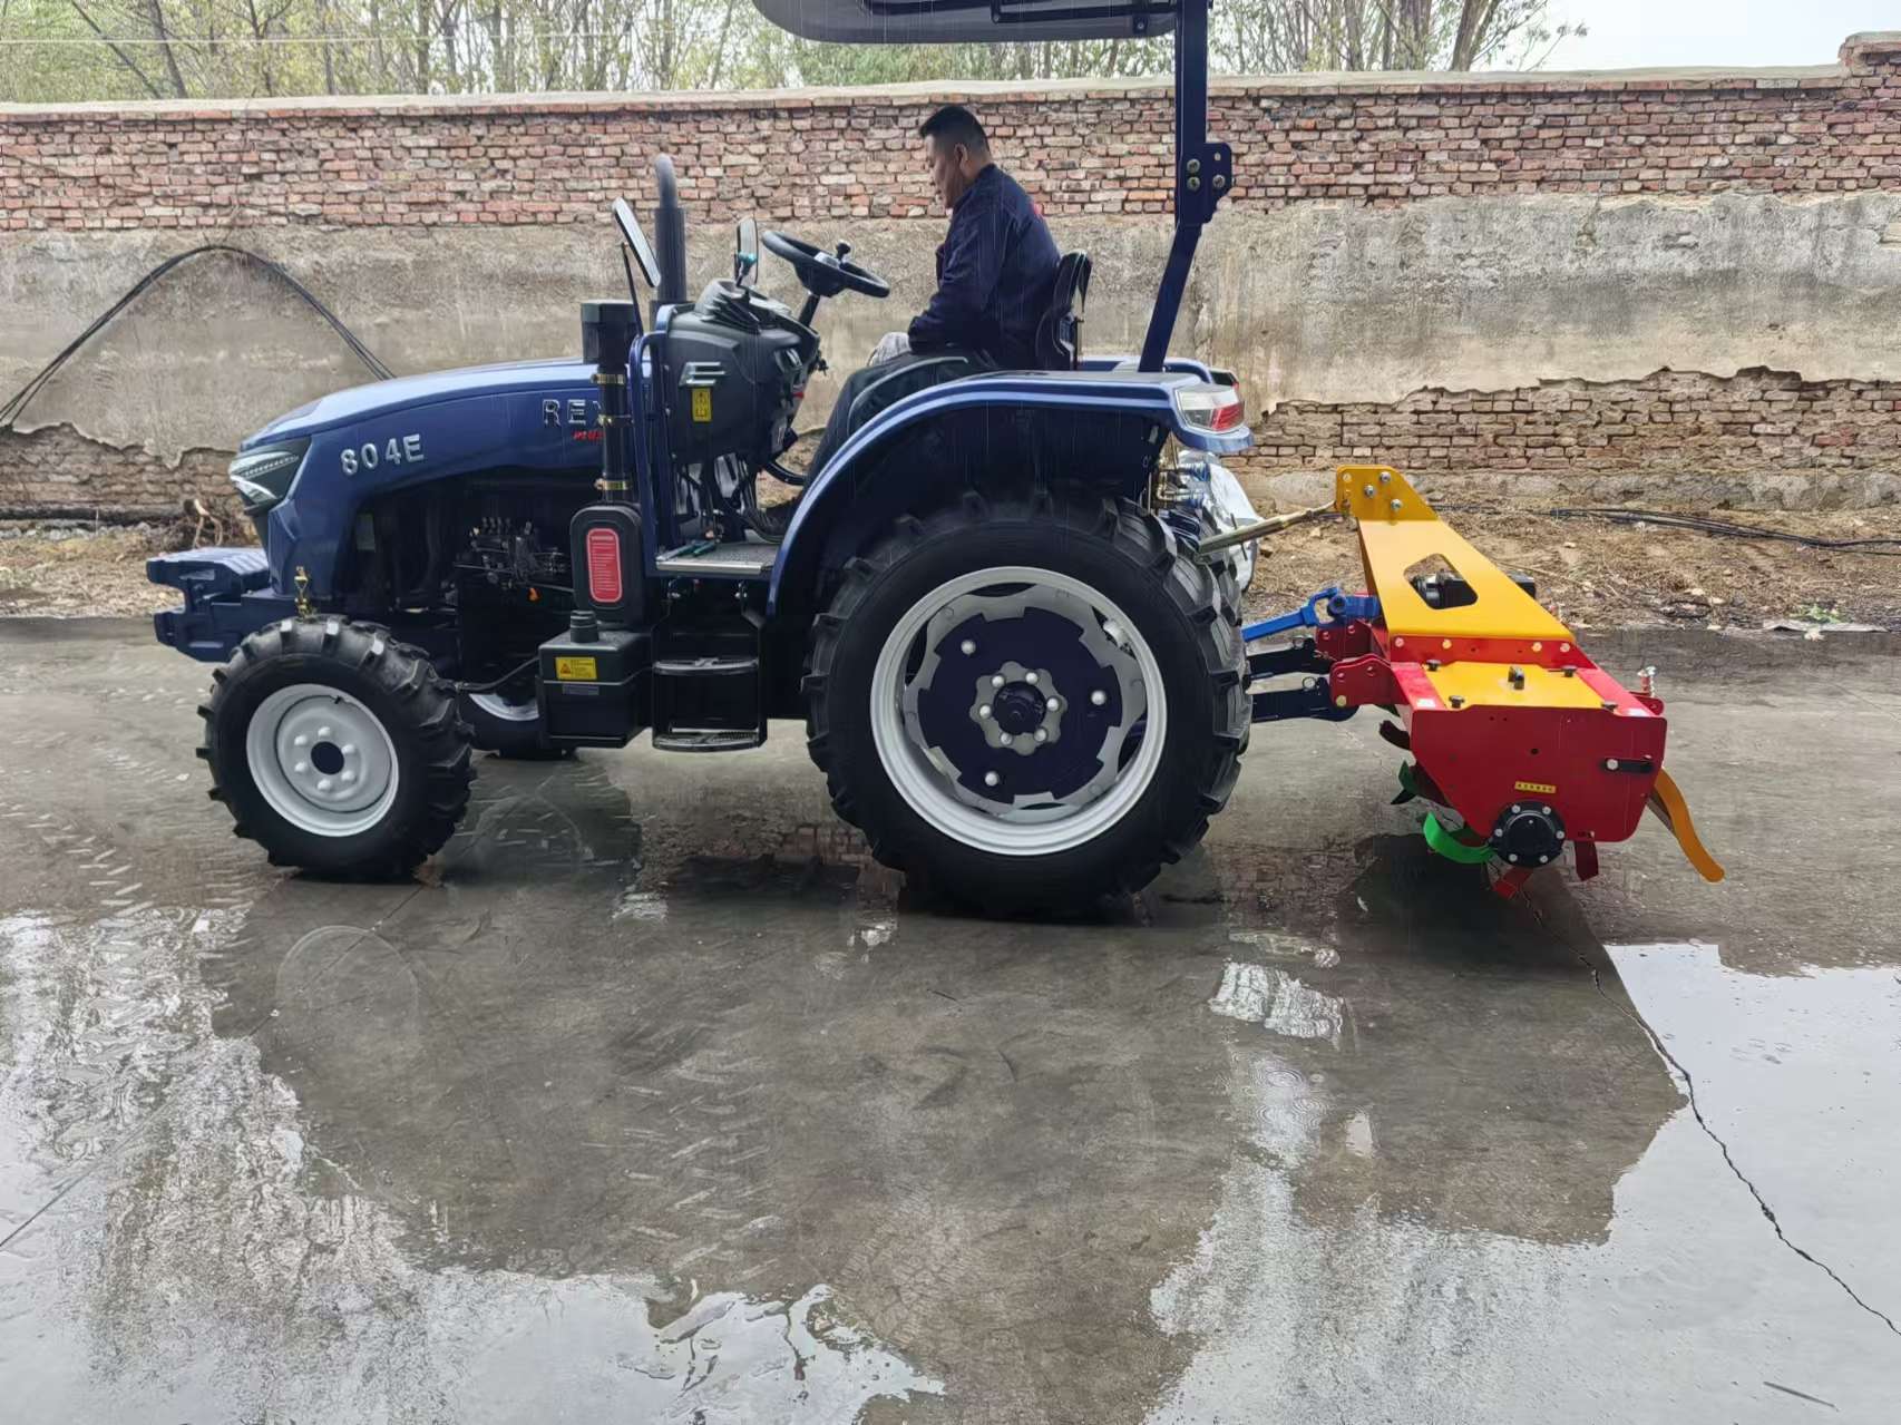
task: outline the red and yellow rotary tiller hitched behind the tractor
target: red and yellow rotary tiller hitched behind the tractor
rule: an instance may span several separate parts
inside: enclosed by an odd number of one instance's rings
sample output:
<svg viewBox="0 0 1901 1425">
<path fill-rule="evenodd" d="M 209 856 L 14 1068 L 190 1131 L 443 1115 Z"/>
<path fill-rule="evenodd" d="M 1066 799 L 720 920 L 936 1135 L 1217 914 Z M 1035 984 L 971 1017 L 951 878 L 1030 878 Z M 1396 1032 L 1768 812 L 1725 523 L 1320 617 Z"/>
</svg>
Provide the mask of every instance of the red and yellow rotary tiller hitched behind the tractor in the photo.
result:
<svg viewBox="0 0 1901 1425">
<path fill-rule="evenodd" d="M 1426 844 L 1488 866 L 1500 895 L 1515 895 L 1566 842 L 1578 878 L 1589 880 L 1599 844 L 1631 836 L 1646 806 L 1705 880 L 1722 880 L 1663 771 L 1663 699 L 1648 671 L 1631 692 L 1597 667 L 1570 629 L 1466 543 L 1399 471 L 1344 466 L 1331 511 L 1359 528 L 1367 593 L 1323 589 L 1293 614 L 1241 631 L 1251 678 L 1306 674 L 1293 688 L 1257 690 L 1255 722 L 1338 722 L 1361 707 L 1395 714 L 1380 735 L 1412 754 L 1397 800 L 1430 802 Z M 1319 513 L 1327 507 L 1304 517 Z M 1287 633 L 1287 646 L 1255 652 Z"/>
</svg>

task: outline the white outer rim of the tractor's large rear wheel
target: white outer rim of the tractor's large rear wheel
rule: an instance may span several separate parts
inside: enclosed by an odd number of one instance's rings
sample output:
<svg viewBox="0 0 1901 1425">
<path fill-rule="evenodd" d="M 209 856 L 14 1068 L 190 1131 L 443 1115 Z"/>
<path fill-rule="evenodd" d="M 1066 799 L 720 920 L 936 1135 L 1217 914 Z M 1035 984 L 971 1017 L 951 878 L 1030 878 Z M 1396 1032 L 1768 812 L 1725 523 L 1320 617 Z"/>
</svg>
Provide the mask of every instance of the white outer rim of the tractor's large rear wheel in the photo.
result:
<svg viewBox="0 0 1901 1425">
<path fill-rule="evenodd" d="M 1082 699 L 1091 697 L 1097 688 L 1084 688 L 1072 676 L 1066 680 L 1078 686 L 1065 688 L 1063 674 L 1049 686 L 1049 674 L 1040 667 L 1044 659 L 987 659 L 981 627 L 968 638 L 975 644 L 973 654 L 964 656 L 962 644 L 956 646 L 956 656 L 968 663 L 952 665 L 952 659 L 941 657 L 939 644 L 952 629 L 968 627 L 971 618 L 989 623 L 1021 618 L 1028 608 L 1059 614 L 1076 627 L 1076 642 L 1095 659 L 1104 678 L 1114 680 L 1104 701 L 1118 720 L 1101 732 L 1101 741 L 1095 741 L 1095 732 L 1085 733 L 1072 720 Z M 920 635 L 922 659 L 916 648 Z M 994 669 L 990 661 L 996 663 Z M 1030 676 L 1032 673 L 1038 676 Z M 998 730 L 981 703 L 987 678 L 1002 676 L 1008 690 L 1017 690 L 1027 680 L 1059 703 L 1036 730 L 1017 730 L 1004 745 L 1004 750 L 1019 758 L 1015 766 L 998 768 L 1011 781 L 979 794 L 960 781 L 960 771 L 970 775 L 975 768 L 960 770 L 941 745 L 931 743 L 920 720 L 920 697 L 933 694 L 939 676 L 952 680 L 943 694 L 947 697 L 962 697 L 964 688 L 973 690 L 975 701 L 968 716 L 985 732 Z M 1036 732 L 1046 737 L 1038 739 Z M 1068 574 L 1002 564 L 937 585 L 897 621 L 871 674 L 871 733 L 892 785 L 933 830 L 996 855 L 1057 855 L 1116 826 L 1148 790 L 1167 739 L 1167 690 L 1148 640 L 1110 598 Z M 1055 796 L 1036 788 L 1034 766 L 1038 750 L 1061 743 L 1065 735 L 1072 739 L 1072 750 L 1097 752 L 1101 770 L 1082 788 Z M 1025 745 L 1025 739 L 1032 741 Z M 1127 750 L 1131 743 L 1133 750 Z"/>
</svg>

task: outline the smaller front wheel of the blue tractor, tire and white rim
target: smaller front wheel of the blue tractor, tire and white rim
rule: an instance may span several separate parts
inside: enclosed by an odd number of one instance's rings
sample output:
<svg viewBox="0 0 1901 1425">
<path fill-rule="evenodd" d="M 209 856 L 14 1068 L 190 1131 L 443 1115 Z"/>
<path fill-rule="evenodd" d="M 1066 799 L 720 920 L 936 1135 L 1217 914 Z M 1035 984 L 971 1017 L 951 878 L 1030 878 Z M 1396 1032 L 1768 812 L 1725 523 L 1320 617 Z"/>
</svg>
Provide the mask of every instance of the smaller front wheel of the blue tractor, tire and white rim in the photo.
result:
<svg viewBox="0 0 1901 1425">
<path fill-rule="evenodd" d="M 342 618 L 283 619 L 211 676 L 211 796 L 272 864 L 401 876 L 454 834 L 470 730 L 420 648 Z"/>
</svg>

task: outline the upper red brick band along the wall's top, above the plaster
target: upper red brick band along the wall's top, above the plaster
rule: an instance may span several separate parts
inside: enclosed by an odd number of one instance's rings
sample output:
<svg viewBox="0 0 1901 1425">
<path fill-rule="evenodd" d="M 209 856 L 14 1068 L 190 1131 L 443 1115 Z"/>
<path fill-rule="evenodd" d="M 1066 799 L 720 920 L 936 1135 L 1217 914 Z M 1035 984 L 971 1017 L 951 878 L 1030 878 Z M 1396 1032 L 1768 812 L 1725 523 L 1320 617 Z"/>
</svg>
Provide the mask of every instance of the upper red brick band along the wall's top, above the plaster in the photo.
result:
<svg viewBox="0 0 1901 1425">
<path fill-rule="evenodd" d="M 0 226 L 593 222 L 662 150 L 705 217 L 912 217 L 945 97 L 981 103 L 1051 213 L 1165 211 L 1165 89 L 1057 84 L 0 106 Z M 1241 207 L 1901 184 L 1901 34 L 1798 70 L 1219 80 L 1211 106 Z"/>
</svg>

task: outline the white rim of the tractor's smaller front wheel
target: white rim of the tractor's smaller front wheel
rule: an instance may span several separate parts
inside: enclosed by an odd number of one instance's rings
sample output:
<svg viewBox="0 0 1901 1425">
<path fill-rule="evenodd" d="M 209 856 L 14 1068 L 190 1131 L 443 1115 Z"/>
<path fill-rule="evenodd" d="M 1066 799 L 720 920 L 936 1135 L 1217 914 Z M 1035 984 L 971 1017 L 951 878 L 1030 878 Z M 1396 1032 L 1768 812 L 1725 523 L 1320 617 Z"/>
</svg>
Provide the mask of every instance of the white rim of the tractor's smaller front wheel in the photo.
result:
<svg viewBox="0 0 1901 1425">
<path fill-rule="evenodd" d="M 363 703 L 319 682 L 279 688 L 245 728 L 251 781 L 312 836 L 355 836 L 395 804 L 395 743 Z"/>
</svg>

